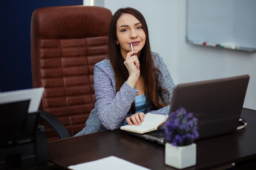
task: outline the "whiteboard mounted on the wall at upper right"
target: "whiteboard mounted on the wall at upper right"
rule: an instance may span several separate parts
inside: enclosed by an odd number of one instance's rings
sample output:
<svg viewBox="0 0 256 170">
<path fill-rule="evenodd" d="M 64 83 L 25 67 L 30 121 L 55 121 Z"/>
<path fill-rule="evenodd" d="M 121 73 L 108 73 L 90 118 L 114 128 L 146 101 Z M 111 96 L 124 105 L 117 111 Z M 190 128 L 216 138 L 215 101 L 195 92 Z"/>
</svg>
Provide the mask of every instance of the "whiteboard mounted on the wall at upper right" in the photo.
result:
<svg viewBox="0 0 256 170">
<path fill-rule="evenodd" d="M 256 0 L 187 0 L 186 39 L 256 51 Z"/>
</svg>

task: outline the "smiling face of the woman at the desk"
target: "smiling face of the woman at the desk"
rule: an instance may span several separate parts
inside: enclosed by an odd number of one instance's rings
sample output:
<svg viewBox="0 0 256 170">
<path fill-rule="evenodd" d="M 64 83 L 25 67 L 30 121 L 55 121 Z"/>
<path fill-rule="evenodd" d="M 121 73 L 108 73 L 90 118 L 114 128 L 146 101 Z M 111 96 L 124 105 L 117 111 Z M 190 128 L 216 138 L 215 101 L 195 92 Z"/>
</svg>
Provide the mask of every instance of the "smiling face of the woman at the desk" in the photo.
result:
<svg viewBox="0 0 256 170">
<path fill-rule="evenodd" d="M 121 55 L 124 60 L 128 52 L 133 50 L 141 51 L 146 42 L 146 34 L 141 23 L 130 13 L 124 13 L 117 20 L 117 41 L 120 45 Z M 139 56 L 139 55 L 138 55 Z"/>
</svg>

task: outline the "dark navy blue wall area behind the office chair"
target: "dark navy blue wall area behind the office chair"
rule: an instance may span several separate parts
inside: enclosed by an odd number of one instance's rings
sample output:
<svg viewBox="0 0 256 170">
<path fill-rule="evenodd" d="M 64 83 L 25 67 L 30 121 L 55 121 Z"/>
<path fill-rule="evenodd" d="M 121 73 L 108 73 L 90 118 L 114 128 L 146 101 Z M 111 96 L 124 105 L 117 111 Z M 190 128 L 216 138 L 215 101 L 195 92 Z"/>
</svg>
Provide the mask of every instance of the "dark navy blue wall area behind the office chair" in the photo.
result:
<svg viewBox="0 0 256 170">
<path fill-rule="evenodd" d="M 39 7 L 82 5 L 83 0 L 3 0 L 0 2 L 0 91 L 32 88 L 30 21 Z"/>
</svg>

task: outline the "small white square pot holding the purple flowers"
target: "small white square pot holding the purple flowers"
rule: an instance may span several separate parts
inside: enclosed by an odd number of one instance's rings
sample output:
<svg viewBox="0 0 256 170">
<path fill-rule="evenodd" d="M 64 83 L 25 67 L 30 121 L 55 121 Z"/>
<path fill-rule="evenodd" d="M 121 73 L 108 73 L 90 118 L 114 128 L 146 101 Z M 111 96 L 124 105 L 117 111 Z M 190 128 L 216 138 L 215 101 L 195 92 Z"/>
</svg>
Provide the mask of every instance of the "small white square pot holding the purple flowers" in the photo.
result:
<svg viewBox="0 0 256 170">
<path fill-rule="evenodd" d="M 196 144 L 173 146 L 165 144 L 165 164 L 182 169 L 194 166 L 196 162 Z"/>
</svg>

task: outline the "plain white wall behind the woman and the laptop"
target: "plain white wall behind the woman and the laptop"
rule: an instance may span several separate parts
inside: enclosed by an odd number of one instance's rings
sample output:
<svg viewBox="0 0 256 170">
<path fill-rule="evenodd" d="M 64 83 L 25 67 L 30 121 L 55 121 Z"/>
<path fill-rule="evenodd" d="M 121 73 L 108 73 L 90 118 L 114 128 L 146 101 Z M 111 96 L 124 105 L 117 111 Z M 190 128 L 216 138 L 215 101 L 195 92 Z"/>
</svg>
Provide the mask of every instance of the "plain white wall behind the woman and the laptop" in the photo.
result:
<svg viewBox="0 0 256 170">
<path fill-rule="evenodd" d="M 105 0 L 114 14 L 121 7 L 145 17 L 152 51 L 159 53 L 175 84 L 249 74 L 244 107 L 256 110 L 256 52 L 195 46 L 186 43 L 186 0 Z"/>
</svg>

